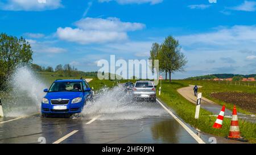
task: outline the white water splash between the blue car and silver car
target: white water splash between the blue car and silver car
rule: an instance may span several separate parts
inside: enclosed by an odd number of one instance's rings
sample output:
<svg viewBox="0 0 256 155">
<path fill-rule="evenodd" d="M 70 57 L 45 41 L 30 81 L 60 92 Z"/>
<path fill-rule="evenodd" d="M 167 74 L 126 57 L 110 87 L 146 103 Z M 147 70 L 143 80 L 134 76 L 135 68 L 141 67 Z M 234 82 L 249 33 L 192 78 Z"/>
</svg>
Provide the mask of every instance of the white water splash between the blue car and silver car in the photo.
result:
<svg viewBox="0 0 256 155">
<path fill-rule="evenodd" d="M 90 118 L 100 115 L 98 120 L 135 120 L 164 114 L 166 112 L 155 102 L 134 102 L 122 86 L 101 89 L 82 112 Z"/>
</svg>

